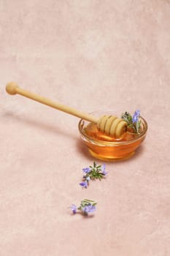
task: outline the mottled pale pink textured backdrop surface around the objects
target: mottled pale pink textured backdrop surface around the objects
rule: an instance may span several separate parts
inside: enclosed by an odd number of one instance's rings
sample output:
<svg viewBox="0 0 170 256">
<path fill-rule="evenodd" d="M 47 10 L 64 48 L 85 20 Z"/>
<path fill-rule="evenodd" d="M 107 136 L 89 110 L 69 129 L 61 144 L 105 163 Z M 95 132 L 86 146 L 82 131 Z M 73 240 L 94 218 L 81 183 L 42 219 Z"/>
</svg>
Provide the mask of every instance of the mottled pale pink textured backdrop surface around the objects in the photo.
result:
<svg viewBox="0 0 170 256">
<path fill-rule="evenodd" d="M 170 1 L 1 0 L 0 11 L 0 255 L 169 256 Z M 78 118 L 9 96 L 11 80 L 87 112 L 140 108 L 147 139 L 83 190 L 94 159 Z M 84 198 L 96 214 L 72 216 Z"/>
</svg>

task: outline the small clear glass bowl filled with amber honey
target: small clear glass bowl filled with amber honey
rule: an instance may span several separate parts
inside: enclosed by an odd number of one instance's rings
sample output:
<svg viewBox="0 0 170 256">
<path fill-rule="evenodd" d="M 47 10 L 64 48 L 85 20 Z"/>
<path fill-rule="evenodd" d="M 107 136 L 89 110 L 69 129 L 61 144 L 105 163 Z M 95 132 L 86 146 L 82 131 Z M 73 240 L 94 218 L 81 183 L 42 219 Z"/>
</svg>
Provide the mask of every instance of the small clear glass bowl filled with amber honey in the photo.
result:
<svg viewBox="0 0 170 256">
<path fill-rule="evenodd" d="M 117 115 L 115 110 L 98 110 L 90 114 L 98 118 L 104 115 L 121 116 L 121 113 Z M 110 138 L 98 132 L 95 124 L 83 119 L 80 120 L 78 127 L 82 142 L 88 147 L 93 157 L 104 161 L 115 161 L 132 157 L 136 148 L 140 146 L 146 137 L 147 121 L 145 121 L 142 116 L 139 116 L 139 120 L 141 121 L 142 127 L 140 134 L 136 135 L 131 132 L 126 132 L 121 139 Z"/>
</svg>

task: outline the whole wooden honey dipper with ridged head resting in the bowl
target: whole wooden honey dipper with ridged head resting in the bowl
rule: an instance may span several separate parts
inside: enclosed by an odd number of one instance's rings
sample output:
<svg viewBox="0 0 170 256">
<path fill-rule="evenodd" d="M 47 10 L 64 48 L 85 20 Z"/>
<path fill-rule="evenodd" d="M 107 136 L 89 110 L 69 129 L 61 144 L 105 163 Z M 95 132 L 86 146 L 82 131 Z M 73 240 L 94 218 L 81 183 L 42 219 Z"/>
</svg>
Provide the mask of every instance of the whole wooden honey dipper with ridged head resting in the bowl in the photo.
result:
<svg viewBox="0 0 170 256">
<path fill-rule="evenodd" d="M 96 118 L 88 113 L 82 113 L 79 110 L 62 105 L 61 103 L 53 102 L 52 100 L 39 96 L 38 94 L 34 94 L 31 91 L 26 91 L 20 88 L 15 82 L 8 83 L 6 86 L 6 91 L 8 94 L 23 95 L 29 99 L 34 99 L 36 102 L 40 102 L 52 108 L 56 108 L 73 116 L 77 116 L 85 119 L 86 121 L 97 124 L 97 127 L 101 132 L 104 132 L 104 134 L 111 137 L 121 138 L 123 133 L 125 133 L 127 130 L 127 122 L 123 121 L 121 118 L 117 118 L 116 116 L 101 116 L 101 118 Z"/>
</svg>

